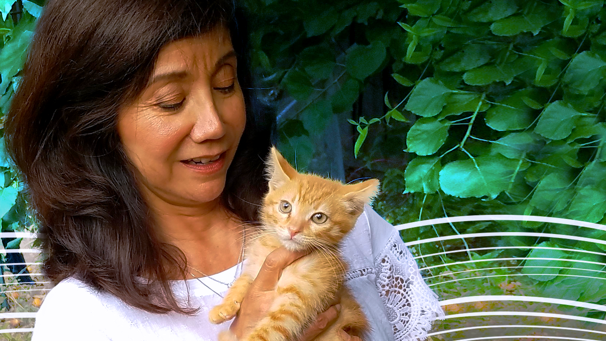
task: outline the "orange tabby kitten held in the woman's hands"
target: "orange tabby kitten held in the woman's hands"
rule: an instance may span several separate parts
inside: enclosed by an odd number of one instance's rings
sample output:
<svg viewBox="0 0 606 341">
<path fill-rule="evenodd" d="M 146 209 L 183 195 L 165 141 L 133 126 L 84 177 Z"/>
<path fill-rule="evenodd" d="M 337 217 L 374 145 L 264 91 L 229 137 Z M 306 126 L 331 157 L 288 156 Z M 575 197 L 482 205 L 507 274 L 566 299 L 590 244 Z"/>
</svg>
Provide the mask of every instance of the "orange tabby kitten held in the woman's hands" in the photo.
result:
<svg viewBox="0 0 606 341">
<path fill-rule="evenodd" d="M 364 204 L 378 192 L 379 181 L 344 185 L 316 175 L 298 174 L 275 147 L 271 148 L 267 173 L 269 191 L 261 208 L 264 231 L 247 246 L 247 263 L 242 275 L 221 305 L 210 311 L 210 321 L 221 323 L 233 318 L 265 257 L 285 246 L 293 251 L 311 250 L 311 253 L 284 269 L 276 287 L 278 298 L 244 340 L 296 339 L 335 299 L 341 300 L 339 318 L 315 340 L 339 340 L 340 329 L 364 337 L 368 323 L 343 285 L 347 265 L 337 245 L 355 225 Z M 219 339 L 236 340 L 230 332 L 221 334 Z"/>
</svg>

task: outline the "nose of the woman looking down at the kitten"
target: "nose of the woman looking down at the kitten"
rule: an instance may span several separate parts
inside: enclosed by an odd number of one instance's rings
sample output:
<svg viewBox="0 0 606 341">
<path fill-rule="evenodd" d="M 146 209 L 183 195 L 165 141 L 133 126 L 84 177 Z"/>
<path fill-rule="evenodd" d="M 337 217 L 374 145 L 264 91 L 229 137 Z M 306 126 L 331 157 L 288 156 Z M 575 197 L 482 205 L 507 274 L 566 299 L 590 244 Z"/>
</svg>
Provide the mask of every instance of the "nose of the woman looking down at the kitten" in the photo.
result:
<svg viewBox="0 0 606 341">
<path fill-rule="evenodd" d="M 191 140 L 201 143 L 205 140 L 218 140 L 225 135 L 225 125 L 214 101 L 203 101 L 193 110 L 195 123 L 191 127 Z"/>
</svg>

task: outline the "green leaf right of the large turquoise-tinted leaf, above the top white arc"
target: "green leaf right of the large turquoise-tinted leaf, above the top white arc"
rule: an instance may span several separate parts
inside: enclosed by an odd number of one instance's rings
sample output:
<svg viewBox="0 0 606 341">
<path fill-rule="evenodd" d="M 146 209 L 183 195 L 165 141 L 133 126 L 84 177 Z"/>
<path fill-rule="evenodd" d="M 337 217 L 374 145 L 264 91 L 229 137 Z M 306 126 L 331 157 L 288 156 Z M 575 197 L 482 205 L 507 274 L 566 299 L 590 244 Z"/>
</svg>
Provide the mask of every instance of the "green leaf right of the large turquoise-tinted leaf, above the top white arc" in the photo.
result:
<svg viewBox="0 0 606 341">
<path fill-rule="evenodd" d="M 530 204 L 548 212 L 562 211 L 573 196 L 570 180 L 562 174 L 551 173 L 539 181 Z"/>
</svg>

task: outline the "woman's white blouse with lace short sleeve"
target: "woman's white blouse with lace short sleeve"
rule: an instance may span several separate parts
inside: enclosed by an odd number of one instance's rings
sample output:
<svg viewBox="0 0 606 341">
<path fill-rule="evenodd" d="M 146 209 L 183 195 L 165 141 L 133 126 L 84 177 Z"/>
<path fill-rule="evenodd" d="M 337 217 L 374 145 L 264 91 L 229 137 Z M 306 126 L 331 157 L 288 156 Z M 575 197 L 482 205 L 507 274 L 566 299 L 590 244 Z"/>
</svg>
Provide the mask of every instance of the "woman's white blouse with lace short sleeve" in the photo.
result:
<svg viewBox="0 0 606 341">
<path fill-rule="evenodd" d="M 372 331 L 367 340 L 425 339 L 442 316 L 437 295 L 425 284 L 398 231 L 367 207 L 341 246 L 349 264 L 346 283 L 362 305 Z M 239 265 L 211 277 L 233 280 Z M 37 316 L 32 341 L 216 341 L 228 323 L 212 325 L 208 311 L 227 286 L 208 277 L 173 282 L 173 291 L 201 307 L 196 316 L 151 314 L 125 305 L 76 279 L 48 292 Z M 218 293 L 218 294 L 217 294 Z"/>
</svg>

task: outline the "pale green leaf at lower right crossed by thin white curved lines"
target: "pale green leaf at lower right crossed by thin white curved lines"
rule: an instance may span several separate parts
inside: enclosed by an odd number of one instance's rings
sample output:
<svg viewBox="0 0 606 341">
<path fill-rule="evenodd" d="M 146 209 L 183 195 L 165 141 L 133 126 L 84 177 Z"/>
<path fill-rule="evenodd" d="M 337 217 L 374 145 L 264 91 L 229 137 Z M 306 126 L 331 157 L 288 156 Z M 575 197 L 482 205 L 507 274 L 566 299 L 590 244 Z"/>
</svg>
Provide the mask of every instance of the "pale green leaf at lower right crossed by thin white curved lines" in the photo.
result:
<svg viewBox="0 0 606 341">
<path fill-rule="evenodd" d="M 550 241 L 544 241 L 538 246 L 543 248 L 558 248 L 559 245 L 551 243 Z M 528 258 L 557 258 L 565 259 L 568 258 L 568 254 L 565 251 L 558 249 L 533 249 L 528 254 Z M 530 266 L 539 266 L 539 268 L 530 268 Z M 554 266 L 556 268 L 547 268 L 547 266 Z M 562 262 L 560 260 L 527 260 L 524 268 L 522 268 L 522 274 L 527 274 L 528 277 L 534 280 L 545 282 L 556 278 L 557 274 L 561 271 L 561 268 L 569 267 L 570 262 Z M 536 275 L 535 275 L 536 274 Z"/>
</svg>

